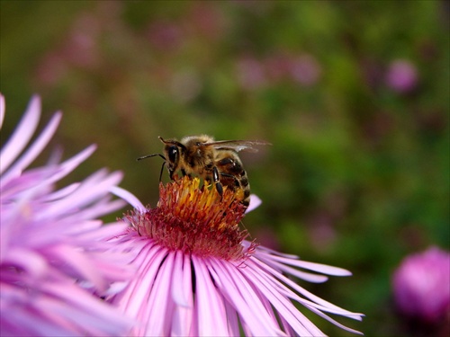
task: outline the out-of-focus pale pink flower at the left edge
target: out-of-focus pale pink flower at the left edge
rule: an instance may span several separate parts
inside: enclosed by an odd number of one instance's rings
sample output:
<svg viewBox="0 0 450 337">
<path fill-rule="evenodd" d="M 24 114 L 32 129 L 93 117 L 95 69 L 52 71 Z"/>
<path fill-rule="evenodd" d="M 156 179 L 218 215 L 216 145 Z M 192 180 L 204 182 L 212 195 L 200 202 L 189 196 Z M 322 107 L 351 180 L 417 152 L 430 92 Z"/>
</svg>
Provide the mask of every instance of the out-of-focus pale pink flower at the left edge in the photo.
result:
<svg viewBox="0 0 450 337">
<path fill-rule="evenodd" d="M 109 190 L 121 173 L 100 170 L 83 182 L 56 190 L 55 184 L 94 151 L 28 169 L 58 128 L 61 113 L 31 140 L 40 120 L 33 97 L 0 153 L 0 335 L 118 335 L 133 323 L 94 296 L 130 276 L 127 255 L 114 249 L 124 228 L 102 226 L 97 217 L 121 208 Z M 0 95 L 0 125 L 4 97 Z M 25 150 L 25 151 L 24 151 Z M 115 283 L 117 287 L 120 283 Z"/>
</svg>

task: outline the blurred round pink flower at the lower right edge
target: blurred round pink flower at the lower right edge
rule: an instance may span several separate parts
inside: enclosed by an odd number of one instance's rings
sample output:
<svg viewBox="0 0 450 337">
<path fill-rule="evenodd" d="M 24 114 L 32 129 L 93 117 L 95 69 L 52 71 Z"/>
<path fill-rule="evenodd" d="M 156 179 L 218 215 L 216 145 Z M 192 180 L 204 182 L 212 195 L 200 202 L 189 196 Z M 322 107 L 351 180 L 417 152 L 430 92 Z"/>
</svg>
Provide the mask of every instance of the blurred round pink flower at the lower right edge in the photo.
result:
<svg viewBox="0 0 450 337">
<path fill-rule="evenodd" d="M 450 253 L 431 247 L 407 256 L 392 279 L 395 303 L 402 314 L 426 323 L 450 315 Z"/>
</svg>

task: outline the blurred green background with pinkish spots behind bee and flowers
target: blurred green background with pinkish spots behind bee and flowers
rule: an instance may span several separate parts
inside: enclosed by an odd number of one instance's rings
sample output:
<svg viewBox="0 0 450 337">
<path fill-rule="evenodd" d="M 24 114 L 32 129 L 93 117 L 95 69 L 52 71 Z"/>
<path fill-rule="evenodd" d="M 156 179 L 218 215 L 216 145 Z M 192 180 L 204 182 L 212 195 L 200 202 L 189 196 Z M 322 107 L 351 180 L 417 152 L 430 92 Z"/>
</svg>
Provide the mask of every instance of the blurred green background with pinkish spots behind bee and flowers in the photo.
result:
<svg viewBox="0 0 450 337">
<path fill-rule="evenodd" d="M 161 160 L 135 159 L 161 151 L 157 136 L 267 140 L 242 155 L 263 200 L 251 235 L 352 270 L 302 282 L 366 315 L 340 322 L 414 334 L 390 282 L 406 254 L 449 248 L 448 2 L 1 1 L 0 14 L 2 142 L 39 93 L 41 127 L 64 111 L 53 148 L 99 146 L 69 181 L 121 170 L 155 205 Z"/>
</svg>

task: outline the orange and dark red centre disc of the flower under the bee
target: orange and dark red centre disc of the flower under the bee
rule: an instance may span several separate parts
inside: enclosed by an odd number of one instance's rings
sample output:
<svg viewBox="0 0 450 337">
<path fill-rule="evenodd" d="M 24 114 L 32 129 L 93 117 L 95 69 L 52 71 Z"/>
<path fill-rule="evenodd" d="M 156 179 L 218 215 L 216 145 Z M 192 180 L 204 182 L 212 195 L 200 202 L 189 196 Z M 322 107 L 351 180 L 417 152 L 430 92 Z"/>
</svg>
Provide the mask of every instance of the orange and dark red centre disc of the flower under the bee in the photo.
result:
<svg viewBox="0 0 450 337">
<path fill-rule="evenodd" d="M 248 253 L 241 244 L 247 237 L 239 229 L 245 206 L 233 191 L 220 194 L 198 178 L 185 176 L 159 186 L 157 208 L 128 217 L 139 235 L 146 235 L 170 250 L 201 257 L 238 260 Z M 253 247 L 252 247 L 253 248 Z"/>
</svg>

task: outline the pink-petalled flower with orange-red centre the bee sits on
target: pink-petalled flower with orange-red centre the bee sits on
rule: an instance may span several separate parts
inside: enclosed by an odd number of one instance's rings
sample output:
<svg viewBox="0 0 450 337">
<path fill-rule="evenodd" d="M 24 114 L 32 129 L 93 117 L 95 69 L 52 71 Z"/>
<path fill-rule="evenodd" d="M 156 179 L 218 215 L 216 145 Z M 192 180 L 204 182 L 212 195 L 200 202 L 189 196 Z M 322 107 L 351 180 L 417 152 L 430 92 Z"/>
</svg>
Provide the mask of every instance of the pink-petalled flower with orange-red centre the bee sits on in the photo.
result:
<svg viewBox="0 0 450 337">
<path fill-rule="evenodd" d="M 144 208 L 116 189 L 136 210 L 126 216 L 123 249 L 137 272 L 120 294 L 107 298 L 139 321 L 134 336 L 323 336 L 293 304 L 352 333 L 327 314 L 361 320 L 302 288 L 292 277 L 323 282 L 350 272 L 277 253 L 245 240 L 245 208 L 232 191 L 222 198 L 198 179 L 160 185 L 157 208 Z M 254 207 L 252 202 L 250 207 Z M 312 270 L 310 273 L 303 270 Z M 319 274 L 318 274 L 319 273 Z"/>
</svg>

